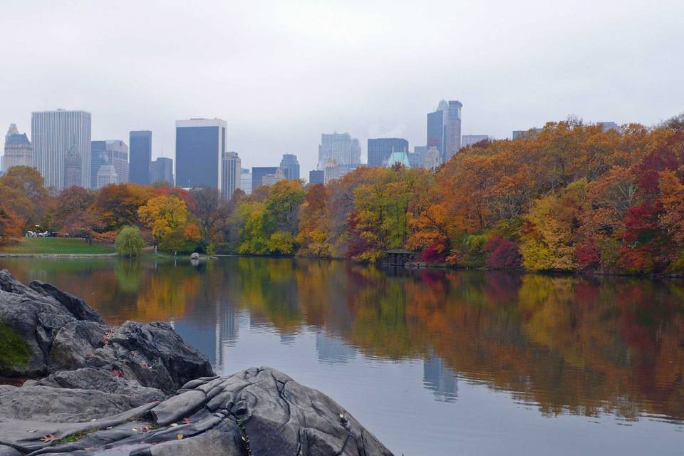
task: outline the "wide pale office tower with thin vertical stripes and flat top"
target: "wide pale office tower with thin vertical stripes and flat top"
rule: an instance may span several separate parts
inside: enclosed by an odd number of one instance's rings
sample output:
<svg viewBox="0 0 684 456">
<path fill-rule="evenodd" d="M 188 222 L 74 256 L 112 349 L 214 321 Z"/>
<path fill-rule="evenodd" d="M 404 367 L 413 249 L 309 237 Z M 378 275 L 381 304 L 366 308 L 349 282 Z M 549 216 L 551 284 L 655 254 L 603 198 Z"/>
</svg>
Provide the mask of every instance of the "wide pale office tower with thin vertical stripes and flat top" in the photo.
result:
<svg viewBox="0 0 684 456">
<path fill-rule="evenodd" d="M 90 187 L 90 113 L 81 110 L 38 111 L 31 113 L 33 163 L 45 179 L 46 187 L 59 191 L 66 187 L 65 177 L 81 187 Z M 66 155 L 71 162 L 66 169 Z M 81 179 L 76 179 L 73 160 L 81 160 Z"/>
</svg>

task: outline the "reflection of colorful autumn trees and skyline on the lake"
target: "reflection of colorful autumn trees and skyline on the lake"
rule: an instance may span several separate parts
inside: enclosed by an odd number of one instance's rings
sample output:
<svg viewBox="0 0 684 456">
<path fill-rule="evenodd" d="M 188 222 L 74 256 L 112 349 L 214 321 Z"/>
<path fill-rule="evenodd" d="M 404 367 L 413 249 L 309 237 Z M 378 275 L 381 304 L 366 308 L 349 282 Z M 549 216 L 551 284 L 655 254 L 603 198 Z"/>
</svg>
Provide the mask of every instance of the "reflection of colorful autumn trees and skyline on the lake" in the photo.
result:
<svg viewBox="0 0 684 456">
<path fill-rule="evenodd" d="M 113 323 L 172 321 L 217 371 L 234 367 L 242 340 L 255 350 L 252 363 L 261 363 L 278 349 L 259 348 L 266 336 L 257 336 L 276 334 L 282 353 L 294 353 L 293 368 L 309 351 L 319 366 L 392 363 L 377 365 L 383 375 L 391 369 L 382 366 L 413 372 L 420 363 L 422 388 L 452 403 L 450 410 L 460 403 L 459 387 L 484 385 L 545 417 L 684 419 L 681 281 L 388 273 L 304 259 L 195 266 L 2 259 L 0 266 L 85 296 Z"/>
</svg>

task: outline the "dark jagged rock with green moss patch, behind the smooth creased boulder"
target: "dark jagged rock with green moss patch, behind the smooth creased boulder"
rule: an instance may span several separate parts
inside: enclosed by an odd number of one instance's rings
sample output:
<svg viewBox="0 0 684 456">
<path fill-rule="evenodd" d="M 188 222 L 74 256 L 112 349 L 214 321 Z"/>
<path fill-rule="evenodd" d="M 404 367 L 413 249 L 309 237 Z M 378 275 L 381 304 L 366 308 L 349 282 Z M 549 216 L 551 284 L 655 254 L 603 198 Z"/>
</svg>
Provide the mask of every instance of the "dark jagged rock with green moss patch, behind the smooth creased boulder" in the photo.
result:
<svg viewBox="0 0 684 456">
<path fill-rule="evenodd" d="M 122 392 L 136 398 L 152 391 L 171 394 L 198 377 L 213 376 L 207 358 L 182 340 L 166 323 L 127 321 L 118 328 L 102 322 L 95 311 L 76 296 L 39 281 L 25 286 L 8 271 L 0 271 L 0 376 L 38 377 L 47 373 L 93 368 L 100 375 L 76 379 L 61 375 L 61 387 Z M 3 347 L 4 348 L 4 347 Z M 56 379 L 44 384 L 53 385 Z"/>
</svg>

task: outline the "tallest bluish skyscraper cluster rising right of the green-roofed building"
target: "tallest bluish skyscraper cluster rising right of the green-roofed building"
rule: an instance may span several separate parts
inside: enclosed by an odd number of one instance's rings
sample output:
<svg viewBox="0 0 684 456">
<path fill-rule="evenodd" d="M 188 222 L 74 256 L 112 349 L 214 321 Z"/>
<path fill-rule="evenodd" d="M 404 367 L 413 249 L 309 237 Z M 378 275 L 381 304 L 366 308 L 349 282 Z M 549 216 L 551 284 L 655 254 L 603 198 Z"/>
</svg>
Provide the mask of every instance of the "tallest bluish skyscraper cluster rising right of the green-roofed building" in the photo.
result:
<svg viewBox="0 0 684 456">
<path fill-rule="evenodd" d="M 434 113 L 427 114 L 427 147 L 437 147 L 442 162 L 461 148 L 461 108 L 457 100 L 440 101 Z"/>
</svg>

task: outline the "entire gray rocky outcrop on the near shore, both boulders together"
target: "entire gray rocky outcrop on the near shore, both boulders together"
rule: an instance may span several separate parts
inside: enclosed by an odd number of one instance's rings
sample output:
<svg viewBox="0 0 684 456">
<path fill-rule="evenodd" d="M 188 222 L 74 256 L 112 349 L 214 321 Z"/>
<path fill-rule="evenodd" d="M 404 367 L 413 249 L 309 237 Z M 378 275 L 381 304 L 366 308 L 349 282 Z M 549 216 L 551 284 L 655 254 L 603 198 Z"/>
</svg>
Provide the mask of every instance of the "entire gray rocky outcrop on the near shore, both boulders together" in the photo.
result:
<svg viewBox="0 0 684 456">
<path fill-rule="evenodd" d="M 328 396 L 271 368 L 219 377 L 165 323 L 108 326 L 0 271 L 0 456 L 392 453 Z"/>
</svg>

